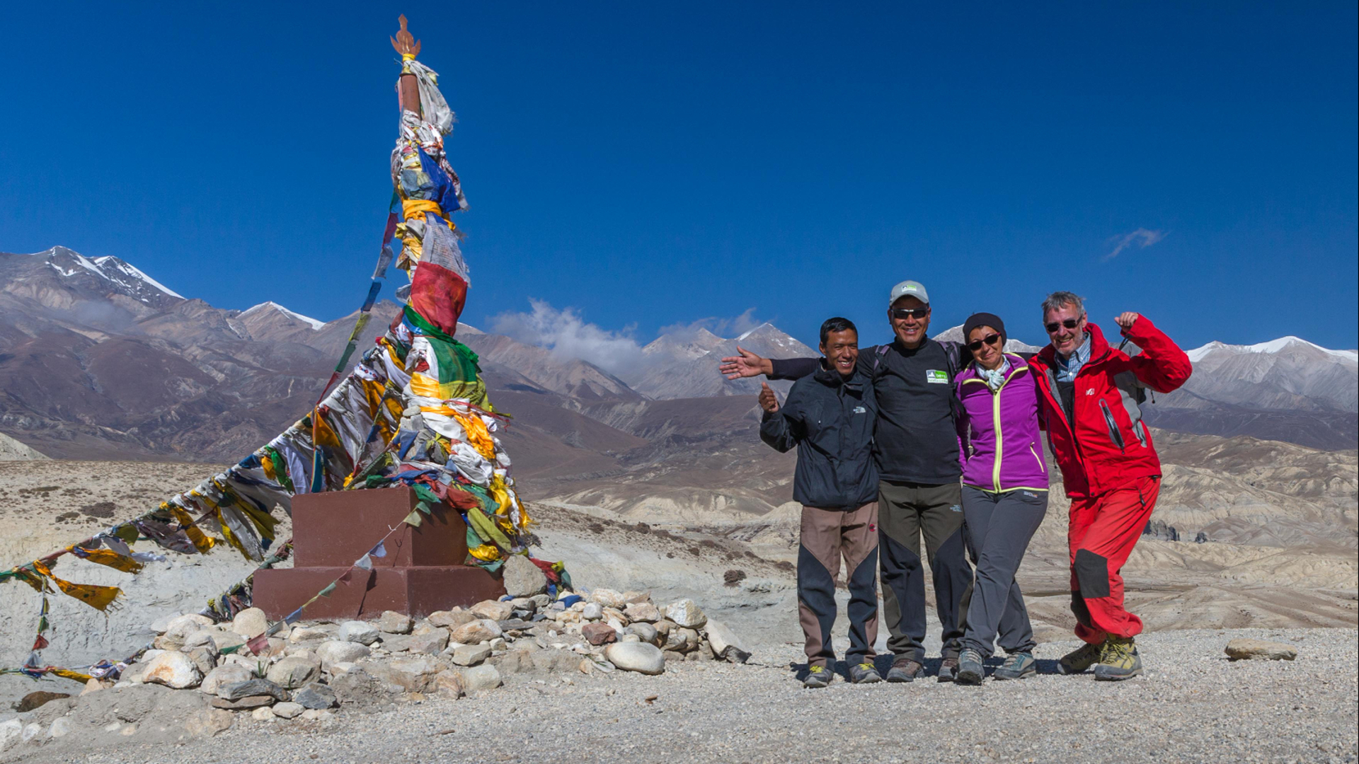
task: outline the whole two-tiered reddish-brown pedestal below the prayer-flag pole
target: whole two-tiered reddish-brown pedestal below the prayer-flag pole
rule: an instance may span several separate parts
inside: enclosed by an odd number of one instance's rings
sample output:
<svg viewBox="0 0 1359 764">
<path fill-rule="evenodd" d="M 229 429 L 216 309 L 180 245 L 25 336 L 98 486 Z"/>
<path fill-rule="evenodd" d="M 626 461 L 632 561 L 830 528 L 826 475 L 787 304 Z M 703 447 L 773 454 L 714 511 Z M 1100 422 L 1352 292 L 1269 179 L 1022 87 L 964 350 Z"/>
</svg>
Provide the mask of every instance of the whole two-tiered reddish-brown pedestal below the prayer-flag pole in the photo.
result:
<svg viewBox="0 0 1359 764">
<path fill-rule="evenodd" d="M 303 493 L 292 499 L 292 568 L 254 574 L 254 606 L 269 619 L 296 610 L 387 536 L 372 570 L 355 568 L 329 597 L 302 612 L 311 619 L 374 619 L 383 610 L 414 617 L 504 595 L 500 576 L 465 566 L 467 526 L 443 504 L 419 527 L 402 519 L 419 499 L 406 487 Z"/>
</svg>

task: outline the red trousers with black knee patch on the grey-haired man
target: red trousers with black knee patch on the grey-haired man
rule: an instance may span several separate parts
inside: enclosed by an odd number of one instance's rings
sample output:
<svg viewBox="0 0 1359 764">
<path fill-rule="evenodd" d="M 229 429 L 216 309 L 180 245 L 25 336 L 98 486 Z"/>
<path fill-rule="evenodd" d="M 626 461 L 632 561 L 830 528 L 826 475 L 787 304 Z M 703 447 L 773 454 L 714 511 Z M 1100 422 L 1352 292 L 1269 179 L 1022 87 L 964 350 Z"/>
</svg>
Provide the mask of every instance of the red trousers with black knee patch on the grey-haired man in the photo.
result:
<svg viewBox="0 0 1359 764">
<path fill-rule="evenodd" d="M 1109 635 L 1142 633 L 1142 619 L 1123 606 L 1120 572 L 1159 492 L 1159 477 L 1139 477 L 1098 496 L 1071 500 L 1071 612 L 1076 614 L 1076 636 L 1084 642 L 1099 644 Z"/>
</svg>

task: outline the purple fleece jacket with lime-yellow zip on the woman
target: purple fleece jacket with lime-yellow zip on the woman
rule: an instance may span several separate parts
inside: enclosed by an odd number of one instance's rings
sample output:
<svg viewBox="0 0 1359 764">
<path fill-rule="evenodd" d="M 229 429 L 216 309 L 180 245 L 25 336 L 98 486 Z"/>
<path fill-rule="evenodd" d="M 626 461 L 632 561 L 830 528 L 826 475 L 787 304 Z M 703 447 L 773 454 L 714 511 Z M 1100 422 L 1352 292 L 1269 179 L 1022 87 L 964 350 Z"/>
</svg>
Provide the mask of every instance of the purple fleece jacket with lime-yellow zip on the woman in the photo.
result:
<svg viewBox="0 0 1359 764">
<path fill-rule="evenodd" d="M 962 483 L 984 491 L 1046 491 L 1038 386 L 1022 358 L 1010 353 L 1006 358 L 1010 371 L 993 393 L 974 364 L 958 374 Z"/>
</svg>

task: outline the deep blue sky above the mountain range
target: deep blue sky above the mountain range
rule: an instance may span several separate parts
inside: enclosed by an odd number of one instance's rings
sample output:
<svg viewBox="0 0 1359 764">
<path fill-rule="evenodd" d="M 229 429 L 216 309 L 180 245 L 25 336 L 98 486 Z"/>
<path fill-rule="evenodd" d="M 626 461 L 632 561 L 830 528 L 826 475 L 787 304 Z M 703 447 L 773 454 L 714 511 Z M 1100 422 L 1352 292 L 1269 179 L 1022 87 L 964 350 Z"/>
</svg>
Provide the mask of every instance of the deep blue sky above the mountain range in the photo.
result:
<svg viewBox="0 0 1359 764">
<path fill-rule="evenodd" d="M 353 310 L 405 12 L 461 120 L 470 324 L 534 298 L 641 341 L 747 309 L 878 340 L 911 277 L 936 329 L 1038 341 L 1070 288 L 1186 347 L 1359 345 L 1352 1 L 156 5 L 7 7 L 0 250 Z"/>
</svg>

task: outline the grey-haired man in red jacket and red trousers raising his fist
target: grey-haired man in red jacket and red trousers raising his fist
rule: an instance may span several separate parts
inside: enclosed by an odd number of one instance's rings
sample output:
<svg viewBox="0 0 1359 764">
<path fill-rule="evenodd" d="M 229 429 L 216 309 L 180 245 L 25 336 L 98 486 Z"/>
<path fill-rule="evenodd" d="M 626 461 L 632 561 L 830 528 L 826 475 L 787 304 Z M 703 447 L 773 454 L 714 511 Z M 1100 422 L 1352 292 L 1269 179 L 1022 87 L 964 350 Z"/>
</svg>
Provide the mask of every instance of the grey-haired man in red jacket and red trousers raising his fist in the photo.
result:
<svg viewBox="0 0 1359 764">
<path fill-rule="evenodd" d="M 1063 657 L 1060 669 L 1072 674 L 1094 666 L 1097 680 L 1142 673 L 1133 646 L 1142 619 L 1123 606 L 1120 570 L 1157 504 L 1161 459 L 1139 404 L 1144 389 L 1169 393 L 1193 371 L 1189 356 L 1147 317 L 1124 313 L 1114 321 L 1135 348 L 1110 347 L 1086 319 L 1079 296 L 1053 292 L 1042 302 L 1052 343 L 1030 362 L 1071 498 L 1071 610 L 1086 643 Z"/>
</svg>

